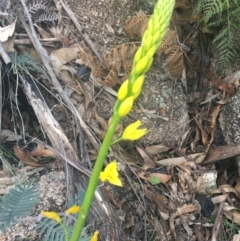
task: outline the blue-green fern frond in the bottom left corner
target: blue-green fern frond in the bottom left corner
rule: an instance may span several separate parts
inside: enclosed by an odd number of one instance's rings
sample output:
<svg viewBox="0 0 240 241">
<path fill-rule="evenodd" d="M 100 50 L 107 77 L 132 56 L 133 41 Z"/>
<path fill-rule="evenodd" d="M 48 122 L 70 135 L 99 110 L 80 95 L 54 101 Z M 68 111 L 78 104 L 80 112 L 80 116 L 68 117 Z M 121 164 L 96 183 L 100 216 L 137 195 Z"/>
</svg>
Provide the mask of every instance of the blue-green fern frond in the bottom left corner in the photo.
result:
<svg viewBox="0 0 240 241">
<path fill-rule="evenodd" d="M 0 230 L 5 232 L 17 222 L 17 218 L 31 213 L 38 201 L 38 191 L 33 181 L 29 184 L 17 185 L 10 189 L 0 204 Z"/>
</svg>

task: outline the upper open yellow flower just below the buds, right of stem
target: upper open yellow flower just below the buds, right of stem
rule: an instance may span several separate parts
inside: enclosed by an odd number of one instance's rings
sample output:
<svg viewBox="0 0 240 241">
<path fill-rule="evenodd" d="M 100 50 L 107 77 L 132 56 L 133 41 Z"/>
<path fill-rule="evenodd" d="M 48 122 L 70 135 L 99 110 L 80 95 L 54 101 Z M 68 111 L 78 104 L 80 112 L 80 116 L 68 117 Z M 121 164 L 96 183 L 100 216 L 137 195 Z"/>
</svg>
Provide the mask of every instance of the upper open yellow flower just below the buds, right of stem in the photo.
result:
<svg viewBox="0 0 240 241">
<path fill-rule="evenodd" d="M 140 120 L 135 121 L 134 123 L 130 124 L 124 130 L 121 139 L 123 140 L 130 140 L 135 141 L 144 136 L 147 133 L 147 129 L 138 129 L 138 127 L 142 124 Z"/>
</svg>

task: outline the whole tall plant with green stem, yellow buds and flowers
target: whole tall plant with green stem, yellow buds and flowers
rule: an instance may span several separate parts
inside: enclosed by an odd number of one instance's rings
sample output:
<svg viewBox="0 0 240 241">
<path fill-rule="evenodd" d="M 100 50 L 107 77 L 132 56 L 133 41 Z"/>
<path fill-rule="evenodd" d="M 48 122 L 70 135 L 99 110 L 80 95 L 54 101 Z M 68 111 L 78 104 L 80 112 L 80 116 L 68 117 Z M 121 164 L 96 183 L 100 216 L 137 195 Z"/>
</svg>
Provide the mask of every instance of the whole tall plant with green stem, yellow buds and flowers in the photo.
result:
<svg viewBox="0 0 240 241">
<path fill-rule="evenodd" d="M 112 120 L 99 150 L 81 209 L 74 209 L 74 211 L 78 210 L 80 212 L 74 226 L 72 237 L 69 239 L 70 241 L 79 240 L 99 179 L 103 182 L 108 181 L 113 185 L 122 186 L 122 182 L 118 176 L 116 161 L 110 162 L 105 167 L 104 171 L 102 171 L 103 163 L 107 156 L 109 147 L 121 140 L 137 140 L 147 133 L 146 128 L 139 129 L 142 122 L 138 120 L 127 126 L 123 131 L 122 136 L 118 140 L 112 142 L 113 135 L 119 122 L 131 111 L 134 101 L 138 98 L 142 91 L 145 74 L 150 69 L 154 54 L 161 45 L 163 37 L 166 33 L 174 4 L 175 0 L 158 0 L 155 5 L 153 15 L 148 23 L 148 28 L 142 37 L 141 46 L 134 56 L 130 76 L 126 81 L 124 81 L 118 91 Z M 49 213 L 50 215 L 48 216 Z M 59 219 L 58 216 L 55 216 L 52 212 L 42 212 L 42 215 L 54 219 L 62 226 L 61 219 Z M 95 231 L 91 241 L 97 240 L 97 235 L 98 231 Z M 68 237 L 66 237 L 66 240 L 68 240 Z"/>
</svg>

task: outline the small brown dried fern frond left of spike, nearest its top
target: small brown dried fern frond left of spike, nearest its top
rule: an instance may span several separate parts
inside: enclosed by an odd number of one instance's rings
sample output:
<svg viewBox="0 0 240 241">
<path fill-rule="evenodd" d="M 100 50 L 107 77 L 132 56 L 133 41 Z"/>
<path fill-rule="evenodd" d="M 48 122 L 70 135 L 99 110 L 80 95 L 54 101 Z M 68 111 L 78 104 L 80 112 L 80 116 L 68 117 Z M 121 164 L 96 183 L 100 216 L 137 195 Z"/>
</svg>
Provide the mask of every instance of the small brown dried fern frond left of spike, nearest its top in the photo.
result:
<svg viewBox="0 0 240 241">
<path fill-rule="evenodd" d="M 147 29 L 149 18 L 150 16 L 145 14 L 131 17 L 126 22 L 125 33 L 131 38 L 142 37 L 144 31 Z"/>
</svg>

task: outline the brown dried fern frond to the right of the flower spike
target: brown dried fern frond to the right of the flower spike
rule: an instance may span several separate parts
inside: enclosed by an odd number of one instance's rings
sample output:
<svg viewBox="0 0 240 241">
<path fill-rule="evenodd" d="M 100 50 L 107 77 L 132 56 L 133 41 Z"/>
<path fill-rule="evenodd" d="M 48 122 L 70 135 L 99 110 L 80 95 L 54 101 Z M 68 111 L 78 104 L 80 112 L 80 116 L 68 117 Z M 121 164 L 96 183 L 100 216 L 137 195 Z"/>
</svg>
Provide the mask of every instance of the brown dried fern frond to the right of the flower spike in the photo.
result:
<svg viewBox="0 0 240 241">
<path fill-rule="evenodd" d="M 165 73 L 174 78 L 181 77 L 184 68 L 183 57 L 182 48 L 178 44 L 173 45 L 171 53 L 167 56 L 163 64 Z"/>
</svg>

